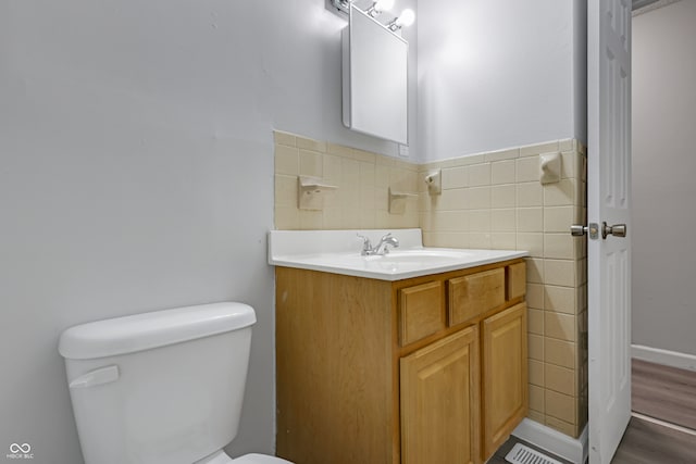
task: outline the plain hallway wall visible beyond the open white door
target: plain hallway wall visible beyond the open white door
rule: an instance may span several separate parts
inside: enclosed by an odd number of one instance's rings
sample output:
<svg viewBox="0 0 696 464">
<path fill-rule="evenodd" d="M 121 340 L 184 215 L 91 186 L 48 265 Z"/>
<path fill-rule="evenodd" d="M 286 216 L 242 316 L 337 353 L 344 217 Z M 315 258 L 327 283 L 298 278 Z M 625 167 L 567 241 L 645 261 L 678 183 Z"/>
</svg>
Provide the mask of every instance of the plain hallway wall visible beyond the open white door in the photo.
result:
<svg viewBox="0 0 696 464">
<path fill-rule="evenodd" d="M 633 343 L 696 354 L 696 1 L 633 18 Z"/>
</svg>

